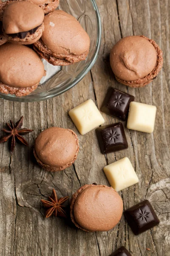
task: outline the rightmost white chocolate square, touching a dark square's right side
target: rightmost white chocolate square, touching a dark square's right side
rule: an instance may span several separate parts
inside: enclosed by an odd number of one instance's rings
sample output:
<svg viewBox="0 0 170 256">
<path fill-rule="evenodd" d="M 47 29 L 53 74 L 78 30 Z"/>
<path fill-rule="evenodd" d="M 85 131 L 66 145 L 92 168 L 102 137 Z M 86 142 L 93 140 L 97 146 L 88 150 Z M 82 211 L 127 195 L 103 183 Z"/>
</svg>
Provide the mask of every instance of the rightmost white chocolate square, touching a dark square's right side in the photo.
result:
<svg viewBox="0 0 170 256">
<path fill-rule="evenodd" d="M 156 107 L 139 102 L 130 102 L 127 128 L 152 133 L 156 118 Z"/>
</svg>

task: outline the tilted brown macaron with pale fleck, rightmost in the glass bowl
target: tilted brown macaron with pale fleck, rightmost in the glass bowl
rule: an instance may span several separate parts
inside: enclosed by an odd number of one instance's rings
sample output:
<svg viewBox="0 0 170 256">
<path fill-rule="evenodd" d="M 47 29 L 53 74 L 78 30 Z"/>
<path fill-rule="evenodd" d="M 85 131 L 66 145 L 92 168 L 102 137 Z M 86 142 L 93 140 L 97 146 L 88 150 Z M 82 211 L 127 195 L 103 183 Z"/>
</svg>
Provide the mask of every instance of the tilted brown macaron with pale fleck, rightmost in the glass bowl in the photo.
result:
<svg viewBox="0 0 170 256">
<path fill-rule="evenodd" d="M 78 20 L 61 10 L 44 18 L 45 29 L 34 49 L 50 64 L 65 66 L 86 59 L 90 38 Z"/>
</svg>

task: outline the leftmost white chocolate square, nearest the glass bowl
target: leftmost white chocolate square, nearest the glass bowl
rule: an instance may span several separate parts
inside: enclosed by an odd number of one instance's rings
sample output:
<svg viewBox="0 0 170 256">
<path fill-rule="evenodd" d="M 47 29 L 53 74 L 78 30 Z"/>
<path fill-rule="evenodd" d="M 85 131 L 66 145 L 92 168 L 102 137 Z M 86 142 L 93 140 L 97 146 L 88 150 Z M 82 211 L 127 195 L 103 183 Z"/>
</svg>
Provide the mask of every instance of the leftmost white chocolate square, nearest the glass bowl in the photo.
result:
<svg viewBox="0 0 170 256">
<path fill-rule="evenodd" d="M 76 108 L 71 109 L 68 114 L 82 135 L 105 122 L 92 99 L 88 99 Z"/>
</svg>

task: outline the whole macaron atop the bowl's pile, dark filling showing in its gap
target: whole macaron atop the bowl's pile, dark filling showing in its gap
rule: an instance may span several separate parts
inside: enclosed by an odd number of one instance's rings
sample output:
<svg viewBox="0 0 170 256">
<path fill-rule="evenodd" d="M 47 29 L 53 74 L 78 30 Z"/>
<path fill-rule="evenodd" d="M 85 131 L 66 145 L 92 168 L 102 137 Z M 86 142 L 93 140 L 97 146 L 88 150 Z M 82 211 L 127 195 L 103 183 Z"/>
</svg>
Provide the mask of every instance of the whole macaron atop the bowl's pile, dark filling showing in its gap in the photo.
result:
<svg viewBox="0 0 170 256">
<path fill-rule="evenodd" d="M 13 44 L 34 44 L 44 31 L 44 12 L 34 3 L 14 1 L 3 13 L 3 30 Z"/>
</svg>

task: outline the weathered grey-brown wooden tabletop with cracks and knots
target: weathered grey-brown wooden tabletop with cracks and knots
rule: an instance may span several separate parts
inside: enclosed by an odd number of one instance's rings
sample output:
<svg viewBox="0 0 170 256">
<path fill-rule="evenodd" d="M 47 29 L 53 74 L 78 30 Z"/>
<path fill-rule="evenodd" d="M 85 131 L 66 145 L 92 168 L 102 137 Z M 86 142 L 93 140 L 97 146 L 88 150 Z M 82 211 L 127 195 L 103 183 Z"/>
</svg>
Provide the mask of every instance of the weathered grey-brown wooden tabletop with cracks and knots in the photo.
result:
<svg viewBox="0 0 170 256">
<path fill-rule="evenodd" d="M 26 138 L 30 147 L 17 145 L 10 154 L 0 145 L 0 256 L 109 256 L 124 245 L 133 256 L 170 255 L 170 1 L 97 0 L 102 19 L 99 58 L 85 78 L 59 97 L 43 102 L 0 100 L 0 128 L 24 116 L 23 127 L 34 132 Z M 150 85 L 131 89 L 115 81 L 109 52 L 127 35 L 153 38 L 164 52 L 164 66 Z M 95 131 L 81 136 L 68 111 L 87 99 L 100 108 L 109 86 L 133 94 L 136 101 L 156 105 L 153 134 L 125 129 L 129 148 L 108 154 L 99 151 Z M 103 114 L 105 124 L 117 122 Z M 45 128 L 71 128 L 79 135 L 80 151 L 74 166 L 62 172 L 45 172 L 35 162 L 34 139 Z M 124 209 L 147 198 L 160 224 L 134 236 L 122 216 L 111 231 L 86 233 L 60 218 L 44 218 L 40 199 L 55 188 L 59 197 L 71 196 L 87 183 L 109 185 L 102 171 L 108 163 L 129 157 L 139 183 L 119 194 Z"/>
</svg>

